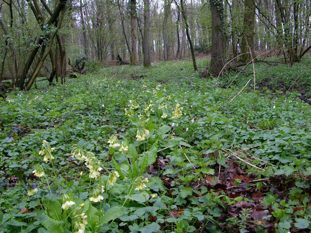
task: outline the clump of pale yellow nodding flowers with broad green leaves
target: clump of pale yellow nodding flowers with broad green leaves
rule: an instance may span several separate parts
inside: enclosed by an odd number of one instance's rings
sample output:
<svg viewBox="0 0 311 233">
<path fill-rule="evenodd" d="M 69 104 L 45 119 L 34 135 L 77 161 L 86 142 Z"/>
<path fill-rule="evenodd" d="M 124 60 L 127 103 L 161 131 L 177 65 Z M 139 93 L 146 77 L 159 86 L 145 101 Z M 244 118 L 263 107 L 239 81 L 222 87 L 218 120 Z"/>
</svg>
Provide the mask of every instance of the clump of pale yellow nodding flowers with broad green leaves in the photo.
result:
<svg viewBox="0 0 311 233">
<path fill-rule="evenodd" d="M 146 88 L 146 85 L 142 88 Z M 106 161 L 87 151 L 84 140 L 72 145 L 71 160 L 79 161 L 77 165 L 86 170 L 72 174 L 76 179 L 71 178 L 65 183 L 64 179 L 59 178 L 55 167 L 61 166 L 55 165 L 54 148 L 43 140 L 39 155 L 43 156 L 45 165 L 36 165 L 33 173 L 39 177 L 39 182 L 35 184 L 29 180 L 27 187 L 31 201 L 37 201 L 40 205 L 37 211 L 41 220 L 33 223 L 32 229 L 41 224 L 51 232 L 106 232 L 119 227 L 114 222 L 117 218 L 123 219 L 121 225 L 129 229 L 160 229 L 158 223 L 163 223 L 164 219 L 150 223 L 148 214 L 147 218 L 141 216 L 141 221 L 135 221 L 133 225 L 127 222 L 138 218 L 133 218 L 133 212 L 138 211 L 134 206 L 147 208 L 148 203 L 156 201 L 158 197 L 158 193 L 153 191 L 165 190 L 158 177 L 151 178 L 145 171 L 147 166 L 156 161 L 159 145 L 164 149 L 179 145 L 181 138 L 174 137 L 174 126 L 183 115 L 183 107 L 178 103 L 172 107 L 171 97 L 163 96 L 160 85 L 152 92 L 146 89 L 145 93 L 145 98 L 130 100 L 124 109 L 133 127 L 124 135 L 110 135 L 107 141 L 110 156 Z M 171 120 L 172 126 L 165 125 Z M 52 185 L 49 185 L 51 177 L 44 171 L 49 169 L 49 164 L 52 170 L 49 173 L 53 173 Z M 143 215 L 147 211 L 151 210 L 144 210 Z"/>
</svg>

